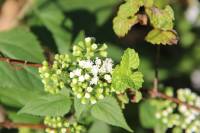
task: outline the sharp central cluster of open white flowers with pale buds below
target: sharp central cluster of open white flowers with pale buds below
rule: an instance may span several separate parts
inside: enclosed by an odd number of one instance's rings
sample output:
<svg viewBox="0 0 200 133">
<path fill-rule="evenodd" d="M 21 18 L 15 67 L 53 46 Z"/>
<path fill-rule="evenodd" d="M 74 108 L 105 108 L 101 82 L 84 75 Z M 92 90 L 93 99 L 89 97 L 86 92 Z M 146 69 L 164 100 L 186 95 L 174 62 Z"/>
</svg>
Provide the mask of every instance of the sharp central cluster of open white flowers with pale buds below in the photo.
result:
<svg viewBox="0 0 200 133">
<path fill-rule="evenodd" d="M 71 88 L 82 104 L 95 104 L 111 92 L 113 62 L 110 58 L 80 60 L 70 72 Z"/>
</svg>

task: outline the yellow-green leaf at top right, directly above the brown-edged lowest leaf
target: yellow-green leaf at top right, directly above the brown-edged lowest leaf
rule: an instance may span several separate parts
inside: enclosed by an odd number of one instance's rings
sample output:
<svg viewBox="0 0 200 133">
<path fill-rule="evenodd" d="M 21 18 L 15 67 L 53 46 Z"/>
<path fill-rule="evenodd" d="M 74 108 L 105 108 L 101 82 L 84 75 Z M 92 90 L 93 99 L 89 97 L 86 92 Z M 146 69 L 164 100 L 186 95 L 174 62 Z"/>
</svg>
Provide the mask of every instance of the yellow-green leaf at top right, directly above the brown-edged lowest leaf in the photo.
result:
<svg viewBox="0 0 200 133">
<path fill-rule="evenodd" d="M 172 30 L 174 12 L 173 9 L 168 5 L 165 9 L 159 9 L 157 7 L 146 8 L 147 15 L 149 16 L 150 22 L 155 29 Z"/>
</svg>

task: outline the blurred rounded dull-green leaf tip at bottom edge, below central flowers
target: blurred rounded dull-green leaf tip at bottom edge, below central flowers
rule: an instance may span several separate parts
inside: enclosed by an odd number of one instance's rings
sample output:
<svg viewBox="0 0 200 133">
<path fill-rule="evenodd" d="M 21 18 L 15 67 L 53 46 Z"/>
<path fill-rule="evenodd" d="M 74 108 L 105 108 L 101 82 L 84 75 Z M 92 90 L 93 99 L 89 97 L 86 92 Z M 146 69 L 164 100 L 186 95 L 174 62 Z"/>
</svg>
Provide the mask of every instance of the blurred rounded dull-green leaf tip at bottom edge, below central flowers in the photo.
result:
<svg viewBox="0 0 200 133">
<path fill-rule="evenodd" d="M 88 133 L 111 133 L 111 129 L 104 122 L 97 121 L 91 126 Z"/>
</svg>

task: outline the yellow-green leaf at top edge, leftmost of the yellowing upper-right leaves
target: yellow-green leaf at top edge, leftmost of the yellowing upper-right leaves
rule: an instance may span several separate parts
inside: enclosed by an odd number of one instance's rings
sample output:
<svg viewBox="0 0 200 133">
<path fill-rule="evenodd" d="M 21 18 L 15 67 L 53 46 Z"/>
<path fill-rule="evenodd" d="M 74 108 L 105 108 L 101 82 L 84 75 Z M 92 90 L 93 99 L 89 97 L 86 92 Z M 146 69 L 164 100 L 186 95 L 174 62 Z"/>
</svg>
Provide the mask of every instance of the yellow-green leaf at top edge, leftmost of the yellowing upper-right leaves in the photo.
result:
<svg viewBox="0 0 200 133">
<path fill-rule="evenodd" d="M 142 0 L 128 0 L 120 6 L 117 16 L 113 19 L 113 29 L 119 37 L 125 36 L 138 22 L 136 13 L 142 5 Z"/>
</svg>

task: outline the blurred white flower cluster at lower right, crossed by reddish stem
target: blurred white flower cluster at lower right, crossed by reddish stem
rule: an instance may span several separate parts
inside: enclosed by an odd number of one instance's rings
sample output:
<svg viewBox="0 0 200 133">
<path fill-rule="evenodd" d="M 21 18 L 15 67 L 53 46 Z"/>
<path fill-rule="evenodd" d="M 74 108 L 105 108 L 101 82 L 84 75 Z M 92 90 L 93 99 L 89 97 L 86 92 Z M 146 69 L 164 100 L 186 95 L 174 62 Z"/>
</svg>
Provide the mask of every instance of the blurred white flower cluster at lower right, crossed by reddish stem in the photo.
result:
<svg viewBox="0 0 200 133">
<path fill-rule="evenodd" d="M 179 89 L 177 98 L 190 105 L 200 107 L 200 97 L 189 89 Z M 185 105 L 169 102 L 165 108 L 156 113 L 156 118 L 161 119 L 169 128 L 179 127 L 186 133 L 200 132 L 200 112 L 187 108 Z"/>
</svg>

